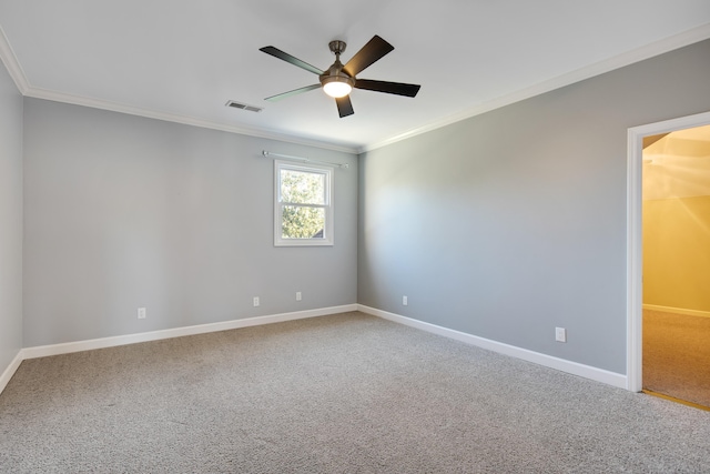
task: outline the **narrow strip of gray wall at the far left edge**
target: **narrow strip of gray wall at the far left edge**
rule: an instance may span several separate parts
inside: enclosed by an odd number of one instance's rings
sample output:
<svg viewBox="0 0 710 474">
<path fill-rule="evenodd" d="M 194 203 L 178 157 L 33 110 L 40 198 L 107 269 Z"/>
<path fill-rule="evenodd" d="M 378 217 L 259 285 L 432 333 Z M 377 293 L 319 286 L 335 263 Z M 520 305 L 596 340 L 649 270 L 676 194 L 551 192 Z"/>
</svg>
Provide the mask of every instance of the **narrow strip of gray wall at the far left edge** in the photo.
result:
<svg viewBox="0 0 710 474">
<path fill-rule="evenodd" d="M 0 62 L 0 374 L 22 347 L 22 95 Z"/>
</svg>

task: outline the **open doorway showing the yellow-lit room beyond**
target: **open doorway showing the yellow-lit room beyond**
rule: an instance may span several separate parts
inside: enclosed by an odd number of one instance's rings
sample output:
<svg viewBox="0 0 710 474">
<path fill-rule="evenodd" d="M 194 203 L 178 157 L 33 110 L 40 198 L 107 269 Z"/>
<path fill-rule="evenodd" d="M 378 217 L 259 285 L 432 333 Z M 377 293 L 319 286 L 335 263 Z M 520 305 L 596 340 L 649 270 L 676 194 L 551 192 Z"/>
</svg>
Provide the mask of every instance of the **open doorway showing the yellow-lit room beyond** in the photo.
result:
<svg viewBox="0 0 710 474">
<path fill-rule="evenodd" d="M 710 125 L 642 147 L 642 389 L 710 410 Z"/>
</svg>

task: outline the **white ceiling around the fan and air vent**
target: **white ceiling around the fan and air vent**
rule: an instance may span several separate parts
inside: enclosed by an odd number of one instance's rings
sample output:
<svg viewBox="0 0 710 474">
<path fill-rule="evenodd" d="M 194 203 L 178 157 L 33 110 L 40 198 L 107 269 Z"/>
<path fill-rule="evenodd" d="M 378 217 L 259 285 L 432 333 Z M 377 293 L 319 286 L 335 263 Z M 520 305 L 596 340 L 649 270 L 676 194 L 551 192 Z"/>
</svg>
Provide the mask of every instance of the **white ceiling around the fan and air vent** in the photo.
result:
<svg viewBox="0 0 710 474">
<path fill-rule="evenodd" d="M 362 151 L 710 38 L 708 0 L 0 0 L 0 58 L 24 95 Z M 355 114 L 311 91 L 327 43 L 395 50 L 358 74 Z M 224 107 L 263 107 L 260 113 Z"/>
</svg>

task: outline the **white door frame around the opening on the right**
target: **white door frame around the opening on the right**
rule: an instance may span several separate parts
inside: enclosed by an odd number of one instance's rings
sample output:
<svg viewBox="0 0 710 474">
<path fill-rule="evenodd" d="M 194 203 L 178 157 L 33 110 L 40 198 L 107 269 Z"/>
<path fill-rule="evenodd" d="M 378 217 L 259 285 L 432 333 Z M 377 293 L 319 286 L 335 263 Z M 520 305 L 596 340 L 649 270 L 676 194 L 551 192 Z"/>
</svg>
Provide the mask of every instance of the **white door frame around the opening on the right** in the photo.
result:
<svg viewBox="0 0 710 474">
<path fill-rule="evenodd" d="M 641 184 L 643 137 L 710 124 L 710 112 L 681 117 L 628 130 L 627 155 L 627 389 L 642 387 L 643 253 L 641 234 Z"/>
</svg>

